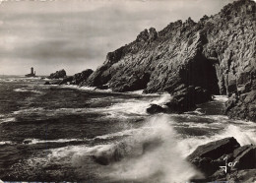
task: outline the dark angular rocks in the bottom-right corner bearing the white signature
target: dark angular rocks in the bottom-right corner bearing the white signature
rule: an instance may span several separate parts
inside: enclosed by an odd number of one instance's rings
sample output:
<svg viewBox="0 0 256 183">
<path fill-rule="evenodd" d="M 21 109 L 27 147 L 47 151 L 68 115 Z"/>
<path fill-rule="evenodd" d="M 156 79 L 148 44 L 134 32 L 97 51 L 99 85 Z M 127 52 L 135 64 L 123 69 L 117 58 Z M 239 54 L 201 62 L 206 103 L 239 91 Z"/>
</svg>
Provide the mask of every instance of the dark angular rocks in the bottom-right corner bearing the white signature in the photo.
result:
<svg viewBox="0 0 256 183">
<path fill-rule="evenodd" d="M 193 181 L 243 182 L 255 177 L 253 173 L 256 172 L 256 146 L 240 147 L 234 138 L 225 138 L 198 147 L 187 160 L 205 174 L 204 179 Z M 225 165 L 226 173 L 220 167 Z"/>
</svg>

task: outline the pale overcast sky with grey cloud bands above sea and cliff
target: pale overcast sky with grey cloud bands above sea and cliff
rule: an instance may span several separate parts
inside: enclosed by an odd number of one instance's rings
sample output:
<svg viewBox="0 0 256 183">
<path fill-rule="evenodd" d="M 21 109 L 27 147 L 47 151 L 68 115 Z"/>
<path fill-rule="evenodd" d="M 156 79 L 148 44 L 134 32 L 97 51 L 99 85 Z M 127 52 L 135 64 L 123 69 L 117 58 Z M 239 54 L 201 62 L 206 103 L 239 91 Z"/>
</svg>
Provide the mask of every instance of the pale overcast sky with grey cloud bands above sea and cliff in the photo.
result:
<svg viewBox="0 0 256 183">
<path fill-rule="evenodd" d="M 140 31 L 198 21 L 232 1 L 0 0 L 0 75 L 24 75 L 32 66 L 37 75 L 95 70 Z"/>
</svg>

